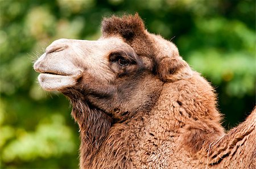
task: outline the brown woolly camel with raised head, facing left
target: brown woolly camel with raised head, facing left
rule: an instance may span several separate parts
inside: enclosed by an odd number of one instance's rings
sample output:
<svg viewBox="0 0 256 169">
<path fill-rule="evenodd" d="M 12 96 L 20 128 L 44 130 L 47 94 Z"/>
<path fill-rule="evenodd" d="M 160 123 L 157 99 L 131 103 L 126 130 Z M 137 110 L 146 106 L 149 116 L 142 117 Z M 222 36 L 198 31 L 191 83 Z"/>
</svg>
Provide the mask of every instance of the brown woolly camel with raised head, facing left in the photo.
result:
<svg viewBox="0 0 256 169">
<path fill-rule="evenodd" d="M 34 64 L 71 101 L 80 168 L 256 168 L 256 110 L 225 132 L 209 82 L 138 14 L 95 41 L 59 39 Z"/>
</svg>

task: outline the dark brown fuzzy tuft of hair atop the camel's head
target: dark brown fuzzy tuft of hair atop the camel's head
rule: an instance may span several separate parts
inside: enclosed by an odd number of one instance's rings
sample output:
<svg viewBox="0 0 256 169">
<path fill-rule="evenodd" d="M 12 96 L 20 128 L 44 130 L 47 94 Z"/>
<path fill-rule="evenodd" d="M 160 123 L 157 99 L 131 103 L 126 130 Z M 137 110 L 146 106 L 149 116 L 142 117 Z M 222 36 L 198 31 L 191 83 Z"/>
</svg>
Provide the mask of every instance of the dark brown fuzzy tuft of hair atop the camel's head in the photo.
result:
<svg viewBox="0 0 256 169">
<path fill-rule="evenodd" d="M 119 35 L 129 41 L 145 31 L 144 23 L 138 13 L 135 15 L 124 15 L 121 18 L 113 15 L 104 18 L 101 23 L 102 35 L 105 37 Z"/>
</svg>

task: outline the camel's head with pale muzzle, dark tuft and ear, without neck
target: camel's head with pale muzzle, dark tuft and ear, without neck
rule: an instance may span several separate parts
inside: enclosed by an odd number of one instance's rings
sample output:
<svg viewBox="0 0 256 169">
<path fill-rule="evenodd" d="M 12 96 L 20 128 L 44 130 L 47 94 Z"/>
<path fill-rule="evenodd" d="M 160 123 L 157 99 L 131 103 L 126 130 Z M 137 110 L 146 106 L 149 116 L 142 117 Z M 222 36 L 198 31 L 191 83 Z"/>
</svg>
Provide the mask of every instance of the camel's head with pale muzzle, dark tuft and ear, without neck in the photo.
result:
<svg viewBox="0 0 256 169">
<path fill-rule="evenodd" d="M 192 75 L 176 46 L 148 33 L 138 14 L 104 19 L 95 41 L 53 41 L 34 69 L 44 90 L 82 99 L 118 120 L 150 109 L 164 83 Z"/>
</svg>

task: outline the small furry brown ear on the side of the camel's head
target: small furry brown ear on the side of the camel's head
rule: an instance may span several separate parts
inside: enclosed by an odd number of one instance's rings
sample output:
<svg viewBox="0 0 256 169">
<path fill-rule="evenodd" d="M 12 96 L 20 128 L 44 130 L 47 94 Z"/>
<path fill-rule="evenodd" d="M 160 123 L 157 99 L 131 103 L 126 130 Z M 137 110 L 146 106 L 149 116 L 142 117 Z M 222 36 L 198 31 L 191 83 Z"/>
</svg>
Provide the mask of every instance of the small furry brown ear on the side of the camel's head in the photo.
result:
<svg viewBox="0 0 256 169">
<path fill-rule="evenodd" d="M 164 82 L 175 82 L 192 77 L 192 70 L 180 56 L 165 57 L 158 65 L 158 74 Z"/>
</svg>

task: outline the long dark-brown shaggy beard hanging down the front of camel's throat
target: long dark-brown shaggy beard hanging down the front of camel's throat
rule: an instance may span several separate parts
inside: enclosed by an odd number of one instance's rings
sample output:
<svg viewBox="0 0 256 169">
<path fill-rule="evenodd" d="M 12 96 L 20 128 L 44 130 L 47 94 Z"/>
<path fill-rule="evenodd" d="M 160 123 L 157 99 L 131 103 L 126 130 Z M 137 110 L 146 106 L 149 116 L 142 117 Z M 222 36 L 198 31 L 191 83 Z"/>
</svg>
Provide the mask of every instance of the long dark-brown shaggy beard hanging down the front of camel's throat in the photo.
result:
<svg viewBox="0 0 256 169">
<path fill-rule="evenodd" d="M 80 128 L 80 166 L 90 166 L 110 129 L 112 119 L 82 100 L 72 100 L 72 104 L 72 116 Z"/>
</svg>

